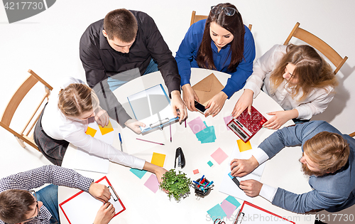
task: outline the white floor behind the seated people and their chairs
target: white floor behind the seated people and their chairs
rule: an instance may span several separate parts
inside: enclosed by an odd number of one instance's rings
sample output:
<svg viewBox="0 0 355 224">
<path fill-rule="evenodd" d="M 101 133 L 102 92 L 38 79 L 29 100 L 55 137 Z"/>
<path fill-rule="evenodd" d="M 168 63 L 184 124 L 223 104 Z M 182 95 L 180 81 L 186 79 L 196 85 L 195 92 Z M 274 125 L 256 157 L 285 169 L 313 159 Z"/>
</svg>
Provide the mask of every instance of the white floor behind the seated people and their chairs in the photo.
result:
<svg viewBox="0 0 355 224">
<path fill-rule="evenodd" d="M 355 131 L 354 113 L 355 46 L 353 0 L 239 0 L 235 4 L 245 24 L 253 24 L 256 58 L 275 43 L 283 43 L 295 23 L 329 43 L 342 56 L 347 55 L 338 73 L 340 85 L 328 109 L 314 119 L 324 119 L 344 133 Z M 14 90 L 28 76 L 31 68 L 44 80 L 55 85 L 64 75 L 84 80 L 79 58 L 79 40 L 87 26 L 104 18 L 113 9 L 145 11 L 157 23 L 160 32 L 175 55 L 190 25 L 192 10 L 208 14 L 219 1 L 167 0 L 60 0 L 47 11 L 26 20 L 9 24 L 0 6 L 0 112 Z M 25 107 L 31 107 L 32 102 Z M 18 114 L 25 120 L 26 112 Z M 0 128 L 0 177 L 24 171 L 49 162 L 33 149 L 22 149 L 9 132 Z M 11 169 L 6 169 L 7 167 Z"/>
</svg>

